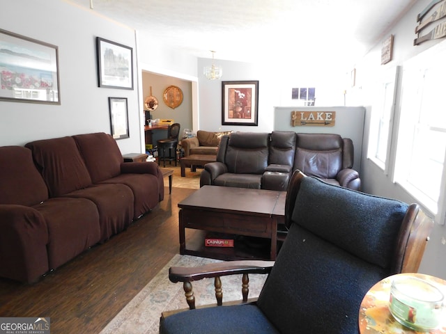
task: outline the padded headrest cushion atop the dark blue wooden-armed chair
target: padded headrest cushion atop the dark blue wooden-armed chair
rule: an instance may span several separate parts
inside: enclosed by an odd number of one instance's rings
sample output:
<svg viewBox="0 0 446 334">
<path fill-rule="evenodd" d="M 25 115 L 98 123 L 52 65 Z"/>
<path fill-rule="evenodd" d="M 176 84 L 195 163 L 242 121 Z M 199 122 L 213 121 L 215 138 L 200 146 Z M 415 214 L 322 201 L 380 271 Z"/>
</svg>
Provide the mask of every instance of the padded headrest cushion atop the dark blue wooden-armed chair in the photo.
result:
<svg viewBox="0 0 446 334">
<path fill-rule="evenodd" d="M 318 203 L 324 203 L 323 207 Z M 390 267 L 392 241 L 397 239 L 408 209 L 406 203 L 398 200 L 345 191 L 315 177 L 302 181 L 295 206 L 299 209 L 293 211 L 293 222 L 385 269 Z"/>
</svg>

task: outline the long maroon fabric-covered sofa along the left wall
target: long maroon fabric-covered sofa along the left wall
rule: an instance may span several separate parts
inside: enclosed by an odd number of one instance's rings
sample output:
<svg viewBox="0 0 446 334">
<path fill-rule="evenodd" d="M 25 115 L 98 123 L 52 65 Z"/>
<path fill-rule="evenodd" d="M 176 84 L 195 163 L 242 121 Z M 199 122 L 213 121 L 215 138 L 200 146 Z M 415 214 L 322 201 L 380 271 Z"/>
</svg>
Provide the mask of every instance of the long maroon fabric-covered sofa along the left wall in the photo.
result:
<svg viewBox="0 0 446 334">
<path fill-rule="evenodd" d="M 124 163 L 109 134 L 0 148 L 0 277 L 33 282 L 164 198 L 157 164 Z"/>
</svg>

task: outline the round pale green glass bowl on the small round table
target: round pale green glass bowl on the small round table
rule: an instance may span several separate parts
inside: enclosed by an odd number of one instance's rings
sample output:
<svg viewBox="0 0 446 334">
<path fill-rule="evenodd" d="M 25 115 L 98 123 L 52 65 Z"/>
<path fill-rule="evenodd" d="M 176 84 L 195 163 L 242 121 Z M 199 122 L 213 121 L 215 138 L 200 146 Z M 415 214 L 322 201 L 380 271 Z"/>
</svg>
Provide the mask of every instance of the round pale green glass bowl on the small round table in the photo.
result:
<svg viewBox="0 0 446 334">
<path fill-rule="evenodd" d="M 395 278 L 390 287 L 390 312 L 415 331 L 429 331 L 440 324 L 443 293 L 419 278 Z"/>
</svg>

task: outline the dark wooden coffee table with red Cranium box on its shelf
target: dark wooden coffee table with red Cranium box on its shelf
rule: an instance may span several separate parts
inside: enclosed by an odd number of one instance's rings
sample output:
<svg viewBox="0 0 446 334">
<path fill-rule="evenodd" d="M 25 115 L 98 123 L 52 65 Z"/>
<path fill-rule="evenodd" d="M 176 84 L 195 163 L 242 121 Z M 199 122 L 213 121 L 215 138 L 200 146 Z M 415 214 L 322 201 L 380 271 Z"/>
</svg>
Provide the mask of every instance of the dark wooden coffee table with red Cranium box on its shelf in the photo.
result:
<svg viewBox="0 0 446 334">
<path fill-rule="evenodd" d="M 203 186 L 178 203 L 180 254 L 212 257 L 220 260 L 275 260 L 277 224 L 284 222 L 285 191 L 245 189 L 229 186 Z M 206 233 L 186 238 L 186 229 L 236 234 L 270 239 L 266 256 L 256 249 L 239 252 L 233 248 L 206 247 Z M 197 241 L 198 239 L 198 241 Z M 190 245 L 186 245 L 186 240 Z M 249 251 L 252 250 L 252 253 Z M 247 253 L 248 251 L 248 253 Z"/>
</svg>

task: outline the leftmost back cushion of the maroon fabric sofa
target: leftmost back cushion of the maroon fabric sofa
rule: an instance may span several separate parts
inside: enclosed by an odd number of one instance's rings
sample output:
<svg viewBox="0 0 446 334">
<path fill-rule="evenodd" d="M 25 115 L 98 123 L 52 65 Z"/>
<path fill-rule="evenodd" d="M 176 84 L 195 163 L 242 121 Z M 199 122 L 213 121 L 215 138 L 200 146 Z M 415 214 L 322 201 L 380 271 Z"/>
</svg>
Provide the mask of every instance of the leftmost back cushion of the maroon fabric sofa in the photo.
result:
<svg viewBox="0 0 446 334">
<path fill-rule="evenodd" d="M 31 206 L 47 200 L 47 186 L 30 150 L 21 146 L 1 147 L 0 166 L 0 204 Z"/>
</svg>

